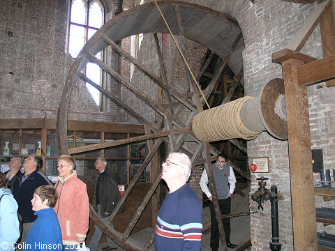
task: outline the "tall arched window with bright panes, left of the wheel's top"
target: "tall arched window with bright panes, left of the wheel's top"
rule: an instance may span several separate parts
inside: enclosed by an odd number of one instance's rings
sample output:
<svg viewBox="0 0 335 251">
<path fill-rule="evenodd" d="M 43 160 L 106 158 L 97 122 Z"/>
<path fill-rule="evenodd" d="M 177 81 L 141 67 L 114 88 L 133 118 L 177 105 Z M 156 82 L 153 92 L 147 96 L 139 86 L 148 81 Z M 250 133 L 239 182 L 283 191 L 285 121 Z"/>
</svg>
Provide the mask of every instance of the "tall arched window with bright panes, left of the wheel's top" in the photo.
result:
<svg viewBox="0 0 335 251">
<path fill-rule="evenodd" d="M 105 22 L 105 8 L 99 0 L 71 0 L 70 22 L 68 26 L 68 53 L 76 57 L 87 40 L 103 26 Z M 103 54 L 96 54 L 103 60 Z M 96 84 L 102 86 L 103 72 L 95 63 L 87 63 L 83 73 Z M 96 105 L 101 107 L 101 93 L 90 84 L 87 89 L 94 98 Z"/>
</svg>

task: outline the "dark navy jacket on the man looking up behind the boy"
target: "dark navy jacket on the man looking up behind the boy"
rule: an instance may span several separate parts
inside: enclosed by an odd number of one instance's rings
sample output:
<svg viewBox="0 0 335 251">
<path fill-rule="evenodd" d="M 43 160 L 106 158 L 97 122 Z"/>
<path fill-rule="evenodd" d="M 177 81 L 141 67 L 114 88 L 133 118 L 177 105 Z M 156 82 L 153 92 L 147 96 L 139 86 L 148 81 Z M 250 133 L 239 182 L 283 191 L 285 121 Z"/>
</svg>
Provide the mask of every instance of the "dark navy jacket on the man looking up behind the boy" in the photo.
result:
<svg viewBox="0 0 335 251">
<path fill-rule="evenodd" d="M 27 176 L 27 178 L 22 181 L 24 174 L 20 174 L 14 183 L 13 195 L 19 205 L 19 211 L 22 215 L 22 222 L 34 222 L 35 215 L 31 206 L 31 199 L 34 197 L 34 191 L 40 185 L 53 185 L 49 178 L 36 170 Z"/>
</svg>

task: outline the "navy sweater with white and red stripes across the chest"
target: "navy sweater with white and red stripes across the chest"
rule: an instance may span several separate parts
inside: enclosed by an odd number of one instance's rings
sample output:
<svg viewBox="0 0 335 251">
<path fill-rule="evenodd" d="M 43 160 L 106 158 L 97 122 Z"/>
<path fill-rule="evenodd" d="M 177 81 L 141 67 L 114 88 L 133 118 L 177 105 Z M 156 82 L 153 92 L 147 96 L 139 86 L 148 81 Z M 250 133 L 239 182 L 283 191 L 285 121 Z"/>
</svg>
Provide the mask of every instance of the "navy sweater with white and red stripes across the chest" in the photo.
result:
<svg viewBox="0 0 335 251">
<path fill-rule="evenodd" d="M 158 213 L 156 251 L 201 250 L 202 207 L 187 185 L 168 194 Z"/>
</svg>

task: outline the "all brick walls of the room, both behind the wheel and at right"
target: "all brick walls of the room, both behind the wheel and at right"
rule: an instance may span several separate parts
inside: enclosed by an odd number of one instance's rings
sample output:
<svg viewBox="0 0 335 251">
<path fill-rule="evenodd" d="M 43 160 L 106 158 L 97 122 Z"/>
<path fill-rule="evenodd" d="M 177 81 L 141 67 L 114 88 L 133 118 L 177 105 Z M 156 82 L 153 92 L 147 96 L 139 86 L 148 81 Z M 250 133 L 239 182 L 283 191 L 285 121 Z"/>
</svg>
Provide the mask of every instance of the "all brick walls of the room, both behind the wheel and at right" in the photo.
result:
<svg viewBox="0 0 335 251">
<path fill-rule="evenodd" d="M 123 8 L 131 7 L 131 0 L 124 1 Z M 245 49 L 242 54 L 244 63 L 244 84 L 246 96 L 258 96 L 264 84 L 274 77 L 282 77 L 281 66 L 271 61 L 271 54 L 281 50 L 294 38 L 297 29 L 315 7 L 313 4 L 290 3 L 279 0 L 257 1 L 252 4 L 246 0 L 225 1 L 191 1 L 209 6 L 221 13 L 233 17 L 244 36 Z M 107 3 L 108 18 L 114 16 L 117 4 Z M 66 1 L 0 1 L 0 113 L 3 119 L 10 118 L 55 118 L 61 97 L 61 90 L 66 75 L 73 61 L 65 53 L 66 20 L 68 6 Z M 288 22 L 290 20 L 290 22 Z M 8 36 L 8 31 L 13 36 Z M 158 34 L 162 45 L 163 36 Z M 122 40 L 121 47 L 128 50 L 128 39 Z M 191 68 L 199 70 L 204 48 L 188 41 L 191 48 Z M 154 40 L 150 34 L 144 35 L 139 59 L 155 74 L 159 74 L 158 60 Z M 187 91 L 184 65 L 170 36 L 165 36 L 165 56 L 168 70 L 168 82 L 178 84 L 178 89 Z M 317 58 L 322 57 L 320 30 L 316 29 L 301 50 Z M 129 64 L 107 50 L 107 61 L 119 69 L 124 77 L 129 78 Z M 140 80 L 140 81 L 139 81 Z M 135 70 L 133 83 L 150 98 L 156 99 L 156 84 Z M 69 106 L 69 119 L 88 121 L 128 121 L 131 119 L 122 109 L 106 100 L 105 112 L 99 112 L 82 82 L 73 86 Z M 133 94 L 121 88 L 117 82 L 107 76 L 107 89 L 118 95 L 128 105 L 146 119 L 155 123 L 157 117 L 144 102 L 133 97 Z M 334 168 L 335 149 L 335 87 L 326 88 L 324 83 L 308 86 L 308 105 L 311 125 L 312 149 L 323 149 L 324 165 Z M 184 119 L 187 112 L 182 114 Z M 189 151 L 194 151 L 194 144 L 188 142 Z M 292 208 L 290 202 L 290 177 L 288 162 L 288 142 L 280 141 L 262 132 L 260 136 L 248 142 L 248 161 L 257 156 L 269 157 L 270 172 L 268 187 L 276 184 L 283 194 L 279 201 L 279 236 L 283 243 L 282 250 L 293 250 Z M 191 186 L 201 198 L 198 180 L 202 167 L 197 167 L 190 179 Z M 251 175 L 251 193 L 258 188 L 257 178 Z M 315 182 L 320 180 L 318 174 Z M 323 201 L 315 197 L 316 206 L 335 206 L 334 201 Z M 269 201 L 265 202 L 262 213 L 251 215 L 252 250 L 268 250 L 271 240 Z M 257 207 L 250 202 L 252 209 Z M 318 223 L 318 231 L 335 234 L 334 227 L 324 227 Z"/>
</svg>

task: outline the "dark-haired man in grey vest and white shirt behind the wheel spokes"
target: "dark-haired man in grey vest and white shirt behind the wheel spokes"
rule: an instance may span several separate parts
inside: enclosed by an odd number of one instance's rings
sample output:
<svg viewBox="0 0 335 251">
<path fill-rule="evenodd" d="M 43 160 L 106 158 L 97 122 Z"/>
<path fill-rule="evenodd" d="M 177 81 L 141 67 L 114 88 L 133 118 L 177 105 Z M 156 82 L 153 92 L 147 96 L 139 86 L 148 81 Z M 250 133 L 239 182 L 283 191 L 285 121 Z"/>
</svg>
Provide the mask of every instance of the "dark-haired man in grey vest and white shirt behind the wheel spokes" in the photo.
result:
<svg viewBox="0 0 335 251">
<path fill-rule="evenodd" d="M 218 195 L 218 205 L 220 206 L 221 215 L 230 214 L 230 205 L 232 201 L 232 193 L 235 189 L 236 178 L 232 167 L 227 164 L 228 158 L 225 154 L 220 154 L 213 163 L 214 182 L 216 193 Z M 228 185 L 229 183 L 229 185 Z M 220 243 L 220 234 L 218 231 L 218 223 L 214 211 L 213 197 L 208 187 L 208 176 L 206 169 L 202 172 L 200 178 L 200 188 L 209 199 L 209 208 L 211 209 L 211 250 L 217 251 Z M 228 248 L 237 248 L 237 245 L 230 243 L 230 218 L 222 219 L 223 229 L 225 231 L 225 241 Z"/>
</svg>

